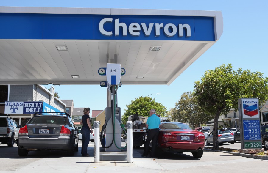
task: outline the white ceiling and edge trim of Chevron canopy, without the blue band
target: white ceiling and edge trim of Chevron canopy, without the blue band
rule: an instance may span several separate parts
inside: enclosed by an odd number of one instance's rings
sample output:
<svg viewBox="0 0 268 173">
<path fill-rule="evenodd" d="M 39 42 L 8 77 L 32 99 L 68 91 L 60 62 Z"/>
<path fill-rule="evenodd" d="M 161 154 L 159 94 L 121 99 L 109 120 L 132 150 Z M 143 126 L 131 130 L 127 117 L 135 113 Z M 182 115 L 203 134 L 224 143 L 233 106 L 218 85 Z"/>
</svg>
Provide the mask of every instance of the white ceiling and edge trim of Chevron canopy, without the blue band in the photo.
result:
<svg viewBox="0 0 268 173">
<path fill-rule="evenodd" d="M 107 54 L 116 54 L 126 70 L 122 84 L 169 85 L 219 39 L 223 28 L 216 11 L 0 7 L 0 12 L 212 16 L 215 30 L 215 41 L 0 39 L 0 84 L 99 84 L 106 76 L 98 69 L 106 67 Z M 68 50 L 58 51 L 56 45 Z M 161 48 L 149 51 L 151 46 Z"/>
</svg>

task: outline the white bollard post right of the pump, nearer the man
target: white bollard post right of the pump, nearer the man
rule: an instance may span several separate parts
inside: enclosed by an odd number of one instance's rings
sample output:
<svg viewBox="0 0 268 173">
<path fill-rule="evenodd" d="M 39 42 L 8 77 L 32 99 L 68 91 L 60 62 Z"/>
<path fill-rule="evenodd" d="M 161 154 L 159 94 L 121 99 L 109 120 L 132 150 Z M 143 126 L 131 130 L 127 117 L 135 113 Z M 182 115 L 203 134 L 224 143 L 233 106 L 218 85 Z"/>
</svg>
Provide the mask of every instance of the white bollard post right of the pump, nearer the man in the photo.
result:
<svg viewBox="0 0 268 173">
<path fill-rule="evenodd" d="M 132 121 L 127 121 L 127 162 L 133 162 Z"/>
</svg>

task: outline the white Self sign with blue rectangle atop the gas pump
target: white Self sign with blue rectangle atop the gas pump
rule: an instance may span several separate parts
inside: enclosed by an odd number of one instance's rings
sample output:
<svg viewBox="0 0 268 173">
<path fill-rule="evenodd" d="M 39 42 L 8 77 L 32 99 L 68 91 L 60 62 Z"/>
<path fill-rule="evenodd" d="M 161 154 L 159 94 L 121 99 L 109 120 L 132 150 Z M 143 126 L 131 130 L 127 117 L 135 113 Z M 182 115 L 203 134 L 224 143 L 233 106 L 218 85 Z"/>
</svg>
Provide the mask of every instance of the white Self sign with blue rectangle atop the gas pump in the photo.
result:
<svg viewBox="0 0 268 173">
<path fill-rule="evenodd" d="M 121 79 L 121 65 L 108 63 L 106 77 L 110 85 L 118 85 Z"/>
</svg>

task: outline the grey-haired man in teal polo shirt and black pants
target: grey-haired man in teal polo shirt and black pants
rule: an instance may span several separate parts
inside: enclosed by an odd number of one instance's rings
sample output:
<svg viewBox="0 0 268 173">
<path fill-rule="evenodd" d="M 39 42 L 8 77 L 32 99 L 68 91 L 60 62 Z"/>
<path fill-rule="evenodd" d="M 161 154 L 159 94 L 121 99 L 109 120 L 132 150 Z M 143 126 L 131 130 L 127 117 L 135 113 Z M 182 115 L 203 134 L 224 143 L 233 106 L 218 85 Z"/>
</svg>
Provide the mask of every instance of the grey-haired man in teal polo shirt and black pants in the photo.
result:
<svg viewBox="0 0 268 173">
<path fill-rule="evenodd" d="M 155 115 L 155 109 L 150 110 L 150 117 L 147 119 L 146 127 L 149 129 L 149 132 L 147 134 L 147 139 L 144 143 L 144 153 L 141 156 L 147 157 L 149 152 L 149 144 L 152 140 L 152 150 L 150 153 L 150 158 L 153 158 L 155 156 L 156 143 L 160 127 L 160 118 Z"/>
</svg>

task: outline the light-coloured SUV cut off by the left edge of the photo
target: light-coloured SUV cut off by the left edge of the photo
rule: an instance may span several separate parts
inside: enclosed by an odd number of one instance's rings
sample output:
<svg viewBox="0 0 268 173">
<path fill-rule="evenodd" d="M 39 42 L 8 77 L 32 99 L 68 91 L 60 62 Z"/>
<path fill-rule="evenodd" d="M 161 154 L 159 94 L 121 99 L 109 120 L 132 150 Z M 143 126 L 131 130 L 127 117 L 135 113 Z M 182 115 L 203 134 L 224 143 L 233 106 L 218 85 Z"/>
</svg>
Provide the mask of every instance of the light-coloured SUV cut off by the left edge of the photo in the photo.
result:
<svg viewBox="0 0 268 173">
<path fill-rule="evenodd" d="M 18 141 L 19 128 L 17 122 L 8 116 L 0 116 L 0 144 L 13 147 Z"/>
</svg>

